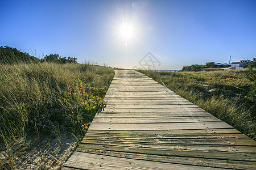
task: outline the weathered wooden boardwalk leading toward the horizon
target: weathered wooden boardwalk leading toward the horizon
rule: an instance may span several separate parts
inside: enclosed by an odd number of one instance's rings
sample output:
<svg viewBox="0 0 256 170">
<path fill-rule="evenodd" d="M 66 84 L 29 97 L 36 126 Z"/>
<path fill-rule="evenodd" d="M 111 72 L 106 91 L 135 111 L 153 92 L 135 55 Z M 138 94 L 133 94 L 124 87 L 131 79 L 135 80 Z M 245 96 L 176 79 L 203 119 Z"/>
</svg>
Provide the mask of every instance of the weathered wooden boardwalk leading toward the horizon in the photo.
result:
<svg viewBox="0 0 256 170">
<path fill-rule="evenodd" d="M 256 142 L 133 70 L 116 70 L 63 169 L 256 169 Z"/>
</svg>

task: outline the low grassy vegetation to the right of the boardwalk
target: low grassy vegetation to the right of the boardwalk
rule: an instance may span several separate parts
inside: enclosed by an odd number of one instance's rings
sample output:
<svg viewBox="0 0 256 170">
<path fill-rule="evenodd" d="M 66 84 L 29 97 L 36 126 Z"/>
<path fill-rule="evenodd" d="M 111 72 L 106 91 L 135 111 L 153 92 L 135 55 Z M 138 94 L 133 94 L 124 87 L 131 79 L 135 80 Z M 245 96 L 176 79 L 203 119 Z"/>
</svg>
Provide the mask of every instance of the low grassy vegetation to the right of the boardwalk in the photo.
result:
<svg viewBox="0 0 256 170">
<path fill-rule="evenodd" d="M 256 70 L 157 72 L 140 70 L 176 94 L 256 139 Z"/>
</svg>

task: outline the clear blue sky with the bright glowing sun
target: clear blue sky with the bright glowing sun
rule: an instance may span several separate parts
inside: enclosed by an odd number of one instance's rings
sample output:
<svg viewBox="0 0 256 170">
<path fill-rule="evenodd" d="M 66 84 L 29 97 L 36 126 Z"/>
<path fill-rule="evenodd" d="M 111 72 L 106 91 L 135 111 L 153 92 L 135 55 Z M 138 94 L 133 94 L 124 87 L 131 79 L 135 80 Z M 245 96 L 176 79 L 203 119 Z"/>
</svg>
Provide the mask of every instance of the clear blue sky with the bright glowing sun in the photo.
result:
<svg viewBox="0 0 256 170">
<path fill-rule="evenodd" d="M 148 52 L 156 69 L 252 60 L 255 9 L 255 0 L 0 0 L 0 46 L 130 69 Z"/>
</svg>

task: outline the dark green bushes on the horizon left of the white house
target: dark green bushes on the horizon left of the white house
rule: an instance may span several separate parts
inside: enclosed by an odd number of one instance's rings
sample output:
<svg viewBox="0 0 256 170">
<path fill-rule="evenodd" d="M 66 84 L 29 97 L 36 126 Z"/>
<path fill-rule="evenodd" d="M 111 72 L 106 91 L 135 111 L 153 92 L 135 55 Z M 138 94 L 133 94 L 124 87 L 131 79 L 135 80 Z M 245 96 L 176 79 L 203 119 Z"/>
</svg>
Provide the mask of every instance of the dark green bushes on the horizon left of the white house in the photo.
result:
<svg viewBox="0 0 256 170">
<path fill-rule="evenodd" d="M 201 69 L 205 69 L 205 68 L 224 68 L 224 67 L 230 67 L 230 65 L 217 65 L 214 62 L 208 62 L 205 65 L 184 66 L 180 71 L 201 71 Z"/>
</svg>

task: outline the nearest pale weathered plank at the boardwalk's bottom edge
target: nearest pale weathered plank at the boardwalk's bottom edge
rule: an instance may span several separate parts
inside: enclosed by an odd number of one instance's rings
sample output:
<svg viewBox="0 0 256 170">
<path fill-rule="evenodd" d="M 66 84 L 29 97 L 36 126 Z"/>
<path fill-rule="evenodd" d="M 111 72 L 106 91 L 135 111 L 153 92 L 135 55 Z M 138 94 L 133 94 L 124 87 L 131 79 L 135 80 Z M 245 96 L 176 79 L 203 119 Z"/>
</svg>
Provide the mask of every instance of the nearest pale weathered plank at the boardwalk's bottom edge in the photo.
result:
<svg viewBox="0 0 256 170">
<path fill-rule="evenodd" d="M 162 162 L 151 162 L 148 160 L 118 158 L 116 156 L 100 155 L 97 159 L 95 154 L 85 152 L 74 152 L 63 169 L 197 169 L 194 165 L 172 164 Z M 215 169 L 209 168 L 206 169 Z"/>
</svg>

